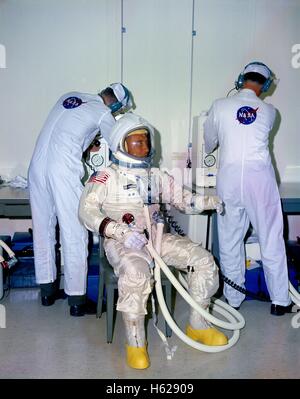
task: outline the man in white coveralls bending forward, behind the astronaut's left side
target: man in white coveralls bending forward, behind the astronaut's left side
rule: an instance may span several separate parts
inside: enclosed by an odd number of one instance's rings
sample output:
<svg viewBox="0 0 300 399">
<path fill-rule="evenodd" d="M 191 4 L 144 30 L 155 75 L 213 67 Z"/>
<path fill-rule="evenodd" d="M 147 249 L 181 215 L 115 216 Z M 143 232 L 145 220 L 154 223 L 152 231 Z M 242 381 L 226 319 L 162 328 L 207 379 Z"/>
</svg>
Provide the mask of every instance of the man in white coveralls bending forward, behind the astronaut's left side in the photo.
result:
<svg viewBox="0 0 300 399">
<path fill-rule="evenodd" d="M 84 174 L 82 153 L 101 131 L 107 139 L 112 116 L 130 106 L 126 87 L 114 83 L 99 95 L 71 92 L 51 110 L 38 137 L 28 171 L 36 281 L 42 305 L 60 297 L 55 264 L 58 221 L 64 251 L 64 291 L 70 314 L 93 313 L 86 304 L 87 231 L 78 219 Z"/>
</svg>

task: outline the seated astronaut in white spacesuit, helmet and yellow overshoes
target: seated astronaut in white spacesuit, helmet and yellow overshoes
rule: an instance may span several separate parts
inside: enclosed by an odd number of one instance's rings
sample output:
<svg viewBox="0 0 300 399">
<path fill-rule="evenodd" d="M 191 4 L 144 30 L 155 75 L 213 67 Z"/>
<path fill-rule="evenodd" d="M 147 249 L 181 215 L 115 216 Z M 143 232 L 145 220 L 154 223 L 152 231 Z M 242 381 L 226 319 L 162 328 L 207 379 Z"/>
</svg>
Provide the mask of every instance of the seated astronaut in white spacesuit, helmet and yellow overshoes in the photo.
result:
<svg viewBox="0 0 300 399">
<path fill-rule="evenodd" d="M 160 203 L 180 210 L 221 209 L 216 196 L 200 196 L 152 168 L 153 127 L 135 114 L 119 119 L 109 138 L 112 163 L 93 174 L 83 191 L 79 217 L 92 232 L 104 237 L 107 259 L 118 277 L 117 310 L 122 312 L 126 332 L 127 364 L 135 369 L 149 367 L 145 341 L 145 315 L 153 288 L 152 258 L 146 244 L 144 204 L 149 204 L 151 236 L 155 237 Z M 161 257 L 167 265 L 187 273 L 189 293 L 204 309 L 218 289 L 218 269 L 212 255 L 187 237 L 164 233 Z M 226 345 L 227 337 L 191 308 L 187 335 L 206 345 Z"/>
</svg>

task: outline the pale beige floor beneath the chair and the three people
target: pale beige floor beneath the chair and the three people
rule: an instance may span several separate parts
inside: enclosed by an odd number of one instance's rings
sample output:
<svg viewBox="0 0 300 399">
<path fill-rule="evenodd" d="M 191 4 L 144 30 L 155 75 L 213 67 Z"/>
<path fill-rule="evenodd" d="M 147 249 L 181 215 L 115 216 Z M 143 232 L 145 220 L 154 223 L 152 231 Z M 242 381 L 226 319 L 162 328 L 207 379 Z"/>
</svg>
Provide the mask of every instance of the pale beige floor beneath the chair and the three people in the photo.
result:
<svg viewBox="0 0 300 399">
<path fill-rule="evenodd" d="M 246 301 L 246 319 L 237 344 L 209 354 L 188 347 L 174 334 L 177 345 L 172 360 L 152 320 L 148 324 L 151 367 L 128 368 L 124 361 L 124 333 L 117 317 L 112 344 L 106 343 L 104 313 L 74 318 L 66 301 L 49 308 L 40 305 L 37 289 L 14 289 L 1 302 L 6 328 L 0 329 L 0 378 L 21 379 L 298 379 L 300 377 L 300 329 L 291 327 L 291 315 L 271 316 L 270 304 Z M 175 316 L 184 327 L 187 305 L 176 298 Z M 162 316 L 159 315 L 160 324 Z"/>
</svg>

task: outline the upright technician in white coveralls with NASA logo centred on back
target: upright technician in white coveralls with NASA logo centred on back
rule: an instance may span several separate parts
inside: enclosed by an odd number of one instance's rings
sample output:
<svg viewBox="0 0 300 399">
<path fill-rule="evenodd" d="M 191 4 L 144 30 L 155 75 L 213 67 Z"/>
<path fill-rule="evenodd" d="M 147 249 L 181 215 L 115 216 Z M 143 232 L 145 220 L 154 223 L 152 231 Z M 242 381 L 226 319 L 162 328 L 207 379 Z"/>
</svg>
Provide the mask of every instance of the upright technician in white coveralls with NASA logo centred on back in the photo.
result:
<svg viewBox="0 0 300 399">
<path fill-rule="evenodd" d="M 290 312 L 288 273 L 280 196 L 268 148 L 276 110 L 259 96 L 273 80 L 270 69 L 248 64 L 234 96 L 216 100 L 204 124 L 205 151 L 219 145 L 217 194 L 224 201 L 218 215 L 220 266 L 234 283 L 245 282 L 244 238 L 251 222 L 259 239 L 271 314 Z M 239 308 L 245 295 L 224 284 L 229 304 Z"/>
</svg>

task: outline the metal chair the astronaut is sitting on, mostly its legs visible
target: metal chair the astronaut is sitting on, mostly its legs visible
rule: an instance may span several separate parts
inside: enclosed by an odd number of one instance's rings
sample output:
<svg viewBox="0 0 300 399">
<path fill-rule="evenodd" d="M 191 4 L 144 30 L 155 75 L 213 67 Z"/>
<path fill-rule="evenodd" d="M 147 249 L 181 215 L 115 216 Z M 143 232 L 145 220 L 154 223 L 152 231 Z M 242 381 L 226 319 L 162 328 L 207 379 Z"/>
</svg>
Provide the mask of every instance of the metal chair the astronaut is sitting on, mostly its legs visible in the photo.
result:
<svg viewBox="0 0 300 399">
<path fill-rule="evenodd" d="M 172 267 L 171 267 L 172 268 Z M 165 300 L 168 309 L 171 311 L 172 306 L 172 284 L 162 273 L 161 276 L 162 286 L 165 293 Z M 97 302 L 97 317 L 100 318 L 102 315 L 102 305 L 104 300 L 104 286 L 106 289 L 106 335 L 107 343 L 112 343 L 113 339 L 113 328 L 114 328 L 114 312 L 115 312 L 115 290 L 118 290 L 118 277 L 114 274 L 113 268 L 109 264 L 100 239 L 99 242 L 99 291 L 98 291 L 98 302 Z M 166 336 L 171 337 L 172 330 L 166 324 Z"/>
</svg>

